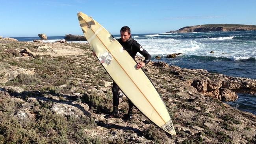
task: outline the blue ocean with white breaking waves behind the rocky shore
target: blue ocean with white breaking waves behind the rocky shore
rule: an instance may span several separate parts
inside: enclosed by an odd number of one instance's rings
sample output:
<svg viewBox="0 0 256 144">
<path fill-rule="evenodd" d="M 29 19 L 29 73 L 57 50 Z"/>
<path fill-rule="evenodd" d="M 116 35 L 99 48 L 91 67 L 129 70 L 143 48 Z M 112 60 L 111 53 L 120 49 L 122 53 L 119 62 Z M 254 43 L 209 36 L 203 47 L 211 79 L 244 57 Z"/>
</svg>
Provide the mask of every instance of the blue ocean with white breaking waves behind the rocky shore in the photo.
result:
<svg viewBox="0 0 256 144">
<path fill-rule="evenodd" d="M 120 35 L 113 35 L 116 39 Z M 152 61 L 189 69 L 206 69 L 228 76 L 256 79 L 256 31 L 148 33 L 132 37 L 152 56 Z M 14 37 L 18 41 L 32 41 L 39 37 Z M 64 36 L 48 37 L 47 41 L 64 40 Z M 213 54 L 210 52 L 213 51 Z M 182 53 L 174 59 L 168 54 Z M 157 55 L 161 59 L 155 59 Z M 256 95 L 238 94 L 232 107 L 256 115 Z"/>
</svg>

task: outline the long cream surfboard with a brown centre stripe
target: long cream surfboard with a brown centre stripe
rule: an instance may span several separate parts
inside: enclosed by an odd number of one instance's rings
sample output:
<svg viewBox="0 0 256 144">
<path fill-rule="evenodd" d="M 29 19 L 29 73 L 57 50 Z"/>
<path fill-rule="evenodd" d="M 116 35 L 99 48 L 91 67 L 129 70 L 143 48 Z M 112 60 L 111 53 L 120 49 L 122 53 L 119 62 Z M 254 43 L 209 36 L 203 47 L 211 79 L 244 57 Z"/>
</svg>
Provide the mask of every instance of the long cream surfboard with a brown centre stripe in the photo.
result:
<svg viewBox="0 0 256 144">
<path fill-rule="evenodd" d="M 143 70 L 136 69 L 135 60 L 96 20 L 82 12 L 77 15 L 92 50 L 122 92 L 154 124 L 176 135 L 165 103 Z"/>
</svg>

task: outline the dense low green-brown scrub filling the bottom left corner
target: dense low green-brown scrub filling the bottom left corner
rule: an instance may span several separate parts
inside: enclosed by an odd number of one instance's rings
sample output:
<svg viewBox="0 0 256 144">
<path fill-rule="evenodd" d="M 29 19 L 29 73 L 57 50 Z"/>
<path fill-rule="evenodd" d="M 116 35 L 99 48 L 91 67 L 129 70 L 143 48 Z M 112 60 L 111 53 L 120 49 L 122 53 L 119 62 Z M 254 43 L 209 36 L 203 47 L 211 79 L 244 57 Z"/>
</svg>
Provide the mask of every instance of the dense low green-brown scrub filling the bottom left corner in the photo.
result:
<svg viewBox="0 0 256 144">
<path fill-rule="evenodd" d="M 11 116 L 24 102 L 10 97 L 0 99 L 0 142 L 2 143 L 62 143 L 100 144 L 99 137 L 89 137 L 84 129 L 96 126 L 88 116 L 62 116 L 52 113 L 52 102 L 35 105 L 31 111 L 34 119 L 19 121 Z"/>
</svg>

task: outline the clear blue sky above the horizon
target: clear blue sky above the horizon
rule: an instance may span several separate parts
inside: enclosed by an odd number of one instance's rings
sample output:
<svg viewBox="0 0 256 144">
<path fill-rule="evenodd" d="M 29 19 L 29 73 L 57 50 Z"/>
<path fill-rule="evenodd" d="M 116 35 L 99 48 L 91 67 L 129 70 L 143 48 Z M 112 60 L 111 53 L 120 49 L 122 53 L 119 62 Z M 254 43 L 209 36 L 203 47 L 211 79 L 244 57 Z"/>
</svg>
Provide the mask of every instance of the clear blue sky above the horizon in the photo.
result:
<svg viewBox="0 0 256 144">
<path fill-rule="evenodd" d="M 200 24 L 256 25 L 255 0 L 1 0 L 0 36 L 82 35 L 77 12 L 112 34 L 165 33 Z"/>
</svg>

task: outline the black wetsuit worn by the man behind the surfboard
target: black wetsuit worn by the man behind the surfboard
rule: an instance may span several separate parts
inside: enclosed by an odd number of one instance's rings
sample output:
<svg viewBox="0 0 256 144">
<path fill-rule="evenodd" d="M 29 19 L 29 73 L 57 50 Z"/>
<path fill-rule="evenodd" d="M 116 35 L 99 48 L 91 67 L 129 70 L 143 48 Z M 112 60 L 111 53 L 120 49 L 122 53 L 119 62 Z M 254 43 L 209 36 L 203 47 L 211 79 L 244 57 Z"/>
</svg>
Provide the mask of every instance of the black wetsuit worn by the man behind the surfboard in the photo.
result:
<svg viewBox="0 0 256 144">
<path fill-rule="evenodd" d="M 133 59 L 135 59 L 135 55 L 137 54 L 137 52 L 139 52 L 141 55 L 143 55 L 145 57 L 145 60 L 143 62 L 146 65 L 151 60 L 151 56 L 148 54 L 148 52 L 146 50 L 144 50 L 144 48 L 142 48 L 141 45 L 138 44 L 138 42 L 135 41 L 134 39 L 130 38 L 126 42 L 123 42 L 122 39 L 118 39 L 117 41 L 119 41 L 119 43 L 123 46 L 124 50 L 126 50 L 133 57 Z M 112 92 L 113 92 L 113 106 L 114 107 L 117 107 L 119 105 L 118 91 L 119 91 L 119 87 L 117 86 L 115 81 L 113 81 Z M 129 103 L 128 113 L 129 112 L 132 113 L 133 103 L 129 99 L 128 99 L 128 103 Z"/>
</svg>

